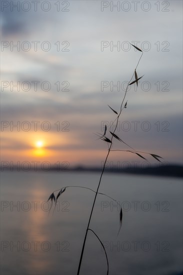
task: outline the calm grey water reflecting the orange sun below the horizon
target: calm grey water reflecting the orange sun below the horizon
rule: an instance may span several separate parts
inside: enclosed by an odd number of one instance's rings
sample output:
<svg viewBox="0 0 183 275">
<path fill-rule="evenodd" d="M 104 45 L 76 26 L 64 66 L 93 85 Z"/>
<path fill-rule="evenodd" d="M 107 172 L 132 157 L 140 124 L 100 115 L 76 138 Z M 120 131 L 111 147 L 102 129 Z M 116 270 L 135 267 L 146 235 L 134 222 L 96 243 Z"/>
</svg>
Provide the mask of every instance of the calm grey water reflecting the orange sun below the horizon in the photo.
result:
<svg viewBox="0 0 183 275">
<path fill-rule="evenodd" d="M 95 189 L 99 173 L 1 173 L 2 274 L 76 274 L 94 193 L 67 188 L 48 216 L 49 194 L 62 186 Z M 99 236 L 112 275 L 182 271 L 182 180 L 105 173 L 90 228 Z M 88 233 L 80 274 L 106 274 L 101 245 Z"/>
</svg>

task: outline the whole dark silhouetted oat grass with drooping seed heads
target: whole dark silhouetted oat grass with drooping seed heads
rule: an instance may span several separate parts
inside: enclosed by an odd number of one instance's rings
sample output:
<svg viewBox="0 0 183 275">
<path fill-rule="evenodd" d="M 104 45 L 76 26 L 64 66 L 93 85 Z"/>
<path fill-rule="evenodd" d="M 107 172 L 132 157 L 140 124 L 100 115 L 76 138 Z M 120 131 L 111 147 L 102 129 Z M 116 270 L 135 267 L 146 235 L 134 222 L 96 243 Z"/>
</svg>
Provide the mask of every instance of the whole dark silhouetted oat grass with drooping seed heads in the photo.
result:
<svg viewBox="0 0 183 275">
<path fill-rule="evenodd" d="M 131 45 L 132 45 L 132 44 L 131 44 Z M 52 207 L 52 203 L 53 203 L 53 201 L 54 201 L 54 208 L 55 208 L 58 197 L 59 197 L 59 196 L 65 191 L 65 189 L 68 188 L 68 187 L 86 188 L 86 189 L 89 189 L 89 190 L 95 192 L 95 196 L 94 196 L 94 200 L 93 200 L 93 204 L 92 204 L 92 208 L 91 208 L 91 212 L 90 212 L 90 215 L 89 215 L 89 220 L 88 220 L 88 224 L 87 224 L 87 228 L 86 228 L 86 232 L 85 232 L 85 236 L 84 236 L 84 241 L 83 241 L 83 245 L 82 245 L 82 250 L 81 250 L 81 254 L 80 254 L 80 259 L 79 259 L 79 264 L 78 264 L 77 275 L 79 275 L 79 271 L 80 271 L 80 266 L 81 266 L 81 262 L 82 262 L 82 256 L 83 256 L 83 252 L 84 252 L 84 246 L 85 246 L 85 241 L 86 241 L 86 237 L 87 237 L 88 230 L 90 230 L 90 231 L 93 232 L 93 234 L 97 237 L 97 239 L 99 240 L 99 242 L 101 243 L 101 245 L 102 245 L 102 247 L 103 247 L 103 250 L 104 250 L 104 253 L 105 253 L 105 256 L 106 256 L 106 261 L 107 261 L 107 271 L 106 271 L 106 274 L 108 274 L 108 258 L 107 258 L 107 254 L 106 254 L 105 247 L 103 246 L 103 244 L 102 244 L 100 238 L 97 236 L 97 234 L 96 234 L 91 228 L 89 228 L 89 224 L 90 224 L 90 220 L 91 220 L 91 216 L 92 216 L 92 212 L 93 212 L 93 208 L 94 208 L 94 204 L 95 204 L 95 200 L 96 200 L 97 194 L 105 195 L 105 196 L 111 198 L 112 200 L 114 200 L 115 202 L 117 202 L 117 201 L 116 201 L 114 198 L 112 198 L 111 196 L 108 196 L 107 194 L 98 192 L 98 189 L 99 189 L 99 186 L 100 186 L 100 182 L 101 182 L 101 178 L 102 178 L 102 175 L 103 175 L 103 172 L 104 172 L 104 169 L 105 169 L 105 165 L 106 165 L 106 161 L 107 161 L 107 158 L 108 158 L 108 155 L 109 155 L 110 151 L 126 151 L 126 152 L 130 152 L 130 153 L 135 153 L 136 155 L 138 155 L 139 157 L 141 157 L 141 158 L 143 158 L 143 159 L 146 159 L 146 158 L 145 158 L 143 155 L 141 155 L 141 154 L 149 154 L 149 155 L 151 155 L 153 158 L 155 158 L 155 159 L 156 159 L 157 161 L 159 161 L 159 162 L 161 162 L 159 158 L 162 158 L 161 156 L 159 156 L 159 155 L 157 155 L 157 154 L 154 154 L 154 153 L 149 153 L 149 152 L 143 152 L 143 151 L 137 151 L 137 150 L 135 150 L 133 147 L 131 147 L 130 145 L 128 145 L 128 144 L 127 144 L 126 142 L 124 142 L 119 136 L 117 136 L 117 135 L 115 134 L 115 130 L 116 130 L 116 128 L 117 128 L 117 122 L 118 122 L 119 116 L 120 116 L 122 110 L 123 110 L 124 108 L 127 107 L 127 100 L 126 100 L 125 103 L 124 103 L 124 100 L 125 100 L 125 97 L 126 97 L 126 93 L 127 93 L 128 86 L 129 86 L 129 85 L 132 85 L 132 84 L 136 84 L 136 85 L 138 86 L 138 80 L 139 80 L 140 78 L 143 77 L 143 75 L 140 76 L 140 77 L 138 77 L 138 76 L 137 76 L 137 72 L 136 72 L 136 68 L 137 68 L 137 66 L 138 66 L 138 64 L 139 64 L 139 61 L 140 61 L 142 55 L 143 55 L 143 52 L 142 52 L 141 49 L 139 49 L 139 48 L 136 47 L 135 45 L 132 45 L 132 46 L 135 47 L 138 51 L 140 51 L 140 52 L 141 52 L 141 55 L 140 55 L 140 57 L 139 57 L 139 60 L 138 60 L 138 62 L 137 62 L 137 65 L 136 65 L 136 67 L 135 67 L 135 69 L 134 69 L 134 72 L 133 72 L 133 74 L 132 74 L 132 76 L 131 76 L 131 78 L 130 78 L 130 80 L 128 81 L 128 84 L 127 84 L 127 86 L 126 86 L 126 89 L 125 89 L 125 92 L 124 92 L 124 96 L 123 96 L 122 101 L 121 101 L 120 110 L 119 110 L 119 112 L 117 112 L 117 111 L 114 110 L 111 106 L 108 105 L 109 108 L 110 108 L 117 116 L 116 116 L 115 120 L 112 122 L 112 124 L 110 125 L 110 128 L 108 129 L 108 134 L 109 134 L 108 136 L 106 136 L 106 133 L 107 133 L 107 126 L 106 126 L 106 125 L 105 125 L 105 127 L 104 127 L 104 133 L 103 133 L 103 134 L 97 133 L 97 135 L 99 136 L 99 139 L 101 139 L 101 140 L 107 142 L 107 144 L 108 144 L 108 152 L 107 152 L 106 157 L 105 157 L 105 161 L 104 161 L 104 164 L 103 164 L 103 168 L 102 168 L 102 171 L 101 171 L 101 174 L 100 174 L 100 178 L 99 178 L 99 182 L 98 182 L 98 186 L 97 186 L 96 191 L 94 191 L 94 190 L 91 189 L 91 188 L 83 187 L 83 186 L 64 186 L 64 187 L 62 187 L 61 189 L 54 190 L 54 191 L 50 194 L 50 196 L 49 196 L 49 198 L 48 198 L 48 200 L 49 200 L 49 199 L 51 200 L 51 207 Z M 134 77 L 135 77 L 135 80 L 133 80 L 133 81 L 131 82 L 131 80 L 132 80 L 132 78 L 133 78 L 133 75 L 134 75 Z M 114 130 L 113 130 L 113 131 L 110 131 L 111 126 L 114 124 L 115 121 L 116 121 L 116 124 L 115 124 L 115 126 L 114 126 Z M 113 144 L 113 138 L 114 138 L 114 139 L 117 139 L 117 140 L 121 141 L 122 143 L 124 143 L 125 145 L 127 145 L 127 146 L 130 148 L 130 150 L 121 150 L 121 149 L 112 150 L 111 148 L 112 148 L 112 144 Z M 55 197 L 54 192 L 57 192 L 57 191 L 58 191 L 58 193 L 57 193 L 57 195 L 56 195 L 56 197 Z M 118 202 L 117 202 L 117 203 L 118 203 Z M 50 208 L 50 209 L 51 209 L 51 208 Z M 54 209 L 53 209 L 53 211 L 54 211 Z M 120 231 L 121 226 L 122 226 L 122 208 L 120 207 L 120 212 L 119 212 L 119 229 L 118 229 L 118 233 L 119 233 L 119 231 Z M 117 233 L 117 235 L 118 235 L 118 233 Z"/>
</svg>

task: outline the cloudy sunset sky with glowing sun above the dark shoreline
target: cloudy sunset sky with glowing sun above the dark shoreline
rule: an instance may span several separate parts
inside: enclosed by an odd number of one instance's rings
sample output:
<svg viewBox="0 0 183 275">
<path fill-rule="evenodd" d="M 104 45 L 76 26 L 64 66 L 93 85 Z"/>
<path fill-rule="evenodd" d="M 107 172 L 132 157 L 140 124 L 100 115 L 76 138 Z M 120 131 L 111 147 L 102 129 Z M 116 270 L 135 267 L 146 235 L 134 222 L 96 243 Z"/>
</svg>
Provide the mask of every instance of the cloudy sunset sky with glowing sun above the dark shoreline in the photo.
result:
<svg viewBox="0 0 183 275">
<path fill-rule="evenodd" d="M 115 133 L 182 164 L 182 1 L 1 1 L 1 166 L 100 166 Z M 134 75 L 132 80 L 134 80 Z M 113 139 L 112 149 L 129 150 Z M 108 165 L 156 165 L 111 151 Z M 19 161 L 19 162 L 18 162 Z M 148 163 L 147 163 L 148 162 Z M 23 166 L 25 165 L 25 166 Z"/>
</svg>

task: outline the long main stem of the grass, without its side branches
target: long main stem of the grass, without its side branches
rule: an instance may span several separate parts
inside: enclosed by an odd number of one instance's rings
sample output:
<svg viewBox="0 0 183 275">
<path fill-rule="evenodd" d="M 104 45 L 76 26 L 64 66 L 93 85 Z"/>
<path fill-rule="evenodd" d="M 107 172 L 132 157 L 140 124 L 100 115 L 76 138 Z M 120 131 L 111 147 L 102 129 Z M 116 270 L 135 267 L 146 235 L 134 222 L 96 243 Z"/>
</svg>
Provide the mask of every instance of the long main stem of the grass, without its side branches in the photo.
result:
<svg viewBox="0 0 183 275">
<path fill-rule="evenodd" d="M 142 52 L 142 54 L 143 54 L 143 52 Z M 142 56 L 142 54 L 141 54 L 141 56 Z M 138 64 L 139 64 L 139 61 L 140 61 L 140 59 L 141 59 L 141 56 L 140 56 L 140 58 L 139 58 L 139 60 L 138 60 L 138 62 L 137 62 L 137 65 L 136 65 L 135 69 L 137 68 L 137 66 L 138 66 Z M 128 85 L 129 85 L 129 83 L 130 83 L 130 81 L 131 81 L 133 75 L 134 75 L 134 72 L 133 72 L 133 74 L 132 74 L 132 76 L 131 76 L 131 78 L 130 78 L 130 80 L 128 81 L 128 84 L 127 84 L 127 86 L 126 86 L 126 90 L 125 90 L 125 93 L 124 93 L 124 96 L 123 96 L 123 99 L 122 99 L 122 102 L 121 102 L 121 105 L 120 105 L 120 112 L 119 112 L 119 114 L 117 115 L 117 121 L 116 121 L 116 125 L 115 125 L 115 128 L 114 128 L 113 133 L 115 132 L 115 130 L 116 130 L 116 128 L 117 128 L 118 119 L 119 119 L 119 116 L 120 116 L 121 111 L 122 111 L 122 109 L 123 109 L 123 108 L 122 108 L 122 104 L 123 104 L 124 99 L 125 99 L 125 97 L 126 97 L 127 88 L 128 88 Z M 115 119 L 115 120 L 116 120 L 116 119 Z M 115 121 L 115 120 L 114 120 L 114 121 Z M 112 123 L 112 124 L 113 124 L 113 123 Z M 84 236 L 84 241 L 83 241 L 83 245 L 82 245 L 82 250 L 81 250 L 81 254 L 80 254 L 80 259 L 79 259 L 79 265 L 78 265 L 77 275 L 79 275 L 79 271 L 80 271 L 80 266 L 81 266 L 81 262 L 82 262 L 82 256 L 83 256 L 83 252 L 84 252 L 84 246 L 85 246 L 86 236 L 87 236 L 87 232 L 88 232 L 88 228 L 89 228 L 89 223 L 90 223 L 90 220 L 91 220 L 91 216 L 92 216 L 92 212 L 93 212 L 93 208 L 94 208 L 96 196 L 97 196 L 98 189 L 99 189 L 100 182 L 101 182 L 101 178 L 102 178 L 102 175 L 103 175 L 103 172 L 104 172 L 105 164 L 106 164 L 108 155 L 109 155 L 109 153 L 110 153 L 110 149 L 111 149 L 111 147 L 112 147 L 112 139 L 113 139 L 113 135 L 112 135 L 112 137 L 111 137 L 111 143 L 110 143 L 110 145 L 109 145 L 109 147 L 108 147 L 108 152 L 107 152 L 107 155 L 106 155 L 106 157 L 105 157 L 105 161 L 104 161 L 104 164 L 103 164 L 103 169 L 102 169 L 102 171 L 101 171 L 101 175 L 100 175 L 99 182 L 98 182 L 98 187 L 97 187 L 97 189 L 96 189 L 96 193 L 95 193 L 95 196 L 94 196 L 94 201 L 93 201 L 93 205 L 92 205 L 92 208 L 91 208 L 91 212 L 90 212 L 90 216 L 89 216 L 89 220 L 88 220 L 88 224 L 87 224 L 87 228 L 86 228 L 86 232 L 85 232 L 85 236 Z"/>
</svg>

